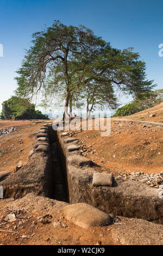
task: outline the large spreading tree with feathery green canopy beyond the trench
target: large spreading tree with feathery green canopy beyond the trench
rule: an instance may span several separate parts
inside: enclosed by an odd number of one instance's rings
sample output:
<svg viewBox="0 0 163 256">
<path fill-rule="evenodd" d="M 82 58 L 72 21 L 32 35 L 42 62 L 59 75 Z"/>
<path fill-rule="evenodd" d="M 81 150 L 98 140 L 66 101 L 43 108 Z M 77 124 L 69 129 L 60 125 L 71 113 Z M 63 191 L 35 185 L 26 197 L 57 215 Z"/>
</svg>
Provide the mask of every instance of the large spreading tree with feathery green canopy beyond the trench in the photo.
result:
<svg viewBox="0 0 163 256">
<path fill-rule="evenodd" d="M 33 34 L 32 44 L 17 71 L 19 96 L 60 95 L 66 111 L 79 88 L 84 92 L 95 83 L 134 95 L 153 88 L 153 81 L 146 80 L 146 65 L 139 60 L 139 53 L 132 48 L 112 48 L 84 26 L 54 21 L 52 27 Z"/>
</svg>

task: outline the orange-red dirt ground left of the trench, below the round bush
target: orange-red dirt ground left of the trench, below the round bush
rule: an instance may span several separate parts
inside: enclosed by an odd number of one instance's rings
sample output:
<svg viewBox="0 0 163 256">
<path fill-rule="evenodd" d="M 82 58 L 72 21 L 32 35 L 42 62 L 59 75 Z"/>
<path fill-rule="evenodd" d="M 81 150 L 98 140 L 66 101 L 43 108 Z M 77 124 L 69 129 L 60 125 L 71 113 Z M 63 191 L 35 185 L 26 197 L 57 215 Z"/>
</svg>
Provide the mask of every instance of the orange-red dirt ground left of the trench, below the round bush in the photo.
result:
<svg viewBox="0 0 163 256">
<path fill-rule="evenodd" d="M 28 161 L 28 154 L 33 149 L 36 132 L 45 120 L 0 121 L 0 130 L 16 126 L 17 131 L 0 137 L 0 172 L 14 172 L 19 161 L 23 165 Z"/>
</svg>

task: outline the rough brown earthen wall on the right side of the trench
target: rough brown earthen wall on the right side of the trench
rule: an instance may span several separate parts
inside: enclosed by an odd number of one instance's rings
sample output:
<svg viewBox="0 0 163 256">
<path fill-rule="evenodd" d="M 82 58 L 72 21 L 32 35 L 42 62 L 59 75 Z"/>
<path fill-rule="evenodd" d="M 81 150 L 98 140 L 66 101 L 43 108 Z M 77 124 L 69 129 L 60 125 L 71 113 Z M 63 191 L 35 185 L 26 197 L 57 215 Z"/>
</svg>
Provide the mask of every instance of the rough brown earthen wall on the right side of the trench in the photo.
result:
<svg viewBox="0 0 163 256">
<path fill-rule="evenodd" d="M 83 167 L 76 164 L 79 151 L 68 151 L 76 142 L 62 134 L 58 131 L 58 150 L 66 167 L 70 204 L 85 202 L 108 214 L 163 224 L 163 200 L 158 197 L 158 190 L 141 182 L 116 179 L 112 187 L 93 187 L 92 176 L 96 170 L 89 164 Z"/>
</svg>

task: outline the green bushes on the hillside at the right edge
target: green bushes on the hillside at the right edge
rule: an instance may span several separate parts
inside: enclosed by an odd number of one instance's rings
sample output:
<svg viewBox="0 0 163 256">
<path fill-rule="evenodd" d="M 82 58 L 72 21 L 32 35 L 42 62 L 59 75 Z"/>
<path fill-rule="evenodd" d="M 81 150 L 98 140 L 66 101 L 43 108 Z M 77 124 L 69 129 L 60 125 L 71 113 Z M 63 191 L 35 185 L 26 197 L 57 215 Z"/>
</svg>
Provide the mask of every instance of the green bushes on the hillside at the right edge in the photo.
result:
<svg viewBox="0 0 163 256">
<path fill-rule="evenodd" d="M 131 115 L 145 109 L 154 107 L 163 101 L 163 90 L 155 90 L 154 92 L 142 93 L 135 97 L 135 100 L 127 105 L 117 109 L 113 117 L 122 117 Z"/>
</svg>

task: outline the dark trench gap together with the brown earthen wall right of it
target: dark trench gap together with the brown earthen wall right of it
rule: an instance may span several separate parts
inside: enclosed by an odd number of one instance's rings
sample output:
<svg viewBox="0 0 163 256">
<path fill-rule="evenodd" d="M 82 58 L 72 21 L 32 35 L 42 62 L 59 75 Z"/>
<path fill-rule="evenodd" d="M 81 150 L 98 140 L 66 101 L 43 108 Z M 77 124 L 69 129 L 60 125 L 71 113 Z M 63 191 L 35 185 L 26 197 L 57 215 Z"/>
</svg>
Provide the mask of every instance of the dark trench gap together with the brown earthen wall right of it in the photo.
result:
<svg viewBox="0 0 163 256">
<path fill-rule="evenodd" d="M 64 141 L 52 126 L 48 126 L 48 137 L 53 177 L 51 198 L 70 204 L 91 204 L 108 214 L 163 223 L 163 205 L 158 196 L 146 195 L 146 191 L 140 191 L 137 184 L 125 187 L 120 183 L 116 187 L 93 188 L 93 168 L 77 168 L 74 172 L 74 167 L 66 159 Z"/>
</svg>

